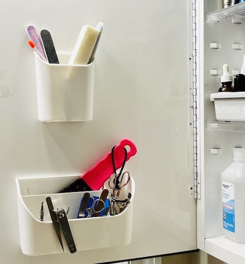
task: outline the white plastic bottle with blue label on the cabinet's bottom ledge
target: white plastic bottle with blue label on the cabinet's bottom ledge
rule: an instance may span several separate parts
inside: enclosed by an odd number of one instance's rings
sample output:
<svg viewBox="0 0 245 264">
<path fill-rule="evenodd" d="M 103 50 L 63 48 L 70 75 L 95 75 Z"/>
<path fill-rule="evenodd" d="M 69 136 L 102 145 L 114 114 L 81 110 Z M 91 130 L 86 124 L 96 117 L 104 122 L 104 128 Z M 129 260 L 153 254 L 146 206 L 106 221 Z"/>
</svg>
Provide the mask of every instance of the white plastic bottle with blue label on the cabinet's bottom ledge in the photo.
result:
<svg viewBox="0 0 245 264">
<path fill-rule="evenodd" d="M 234 162 L 221 174 L 223 234 L 245 243 L 245 148 L 233 148 Z"/>
</svg>

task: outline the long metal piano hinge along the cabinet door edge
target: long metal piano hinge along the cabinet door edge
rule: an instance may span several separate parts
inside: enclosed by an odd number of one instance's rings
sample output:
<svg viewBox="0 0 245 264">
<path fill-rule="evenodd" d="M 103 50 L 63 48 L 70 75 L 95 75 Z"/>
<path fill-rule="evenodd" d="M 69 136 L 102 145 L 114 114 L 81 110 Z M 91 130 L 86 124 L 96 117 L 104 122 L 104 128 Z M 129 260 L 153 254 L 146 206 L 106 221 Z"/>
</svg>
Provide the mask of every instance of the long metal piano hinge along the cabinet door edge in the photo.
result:
<svg viewBox="0 0 245 264">
<path fill-rule="evenodd" d="M 197 199 L 197 196 L 199 196 L 200 192 L 197 190 L 199 188 L 199 184 L 197 184 L 197 116 L 196 116 L 196 0 L 192 0 L 192 54 L 193 54 L 193 157 L 194 157 L 194 198 Z M 198 187 L 197 187 L 198 185 Z M 198 193 L 198 195 L 197 195 Z"/>
</svg>

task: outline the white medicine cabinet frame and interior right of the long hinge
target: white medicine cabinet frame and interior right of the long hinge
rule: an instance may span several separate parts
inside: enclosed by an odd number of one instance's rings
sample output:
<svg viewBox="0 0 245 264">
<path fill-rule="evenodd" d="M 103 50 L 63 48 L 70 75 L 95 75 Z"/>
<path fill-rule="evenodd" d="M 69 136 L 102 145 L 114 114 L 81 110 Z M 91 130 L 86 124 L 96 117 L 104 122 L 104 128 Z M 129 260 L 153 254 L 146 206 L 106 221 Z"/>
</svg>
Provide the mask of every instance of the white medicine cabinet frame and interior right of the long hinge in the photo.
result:
<svg viewBox="0 0 245 264">
<path fill-rule="evenodd" d="M 240 73 L 245 54 L 245 3 L 221 8 L 222 1 L 196 1 L 197 86 L 200 109 L 197 247 L 229 264 L 245 263 L 245 245 L 223 236 L 221 172 L 233 159 L 233 147 L 245 147 L 245 122 L 217 121 L 210 94 L 221 87 L 222 65 Z M 208 15 L 209 14 L 209 15 Z M 219 21 L 219 22 L 218 22 Z M 236 217 L 236 216 L 235 216 Z"/>
</svg>

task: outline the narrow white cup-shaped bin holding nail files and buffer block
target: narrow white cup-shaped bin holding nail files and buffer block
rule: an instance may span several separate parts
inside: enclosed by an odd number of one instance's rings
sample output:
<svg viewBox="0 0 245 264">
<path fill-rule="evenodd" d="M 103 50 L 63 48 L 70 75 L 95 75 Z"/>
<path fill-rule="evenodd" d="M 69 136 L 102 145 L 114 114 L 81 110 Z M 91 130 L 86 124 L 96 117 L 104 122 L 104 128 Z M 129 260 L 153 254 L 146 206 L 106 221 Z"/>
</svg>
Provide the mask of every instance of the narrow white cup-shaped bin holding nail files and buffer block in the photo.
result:
<svg viewBox="0 0 245 264">
<path fill-rule="evenodd" d="M 68 65 L 71 54 L 58 53 L 60 64 L 35 54 L 38 119 L 43 122 L 93 119 L 94 61 Z"/>
</svg>

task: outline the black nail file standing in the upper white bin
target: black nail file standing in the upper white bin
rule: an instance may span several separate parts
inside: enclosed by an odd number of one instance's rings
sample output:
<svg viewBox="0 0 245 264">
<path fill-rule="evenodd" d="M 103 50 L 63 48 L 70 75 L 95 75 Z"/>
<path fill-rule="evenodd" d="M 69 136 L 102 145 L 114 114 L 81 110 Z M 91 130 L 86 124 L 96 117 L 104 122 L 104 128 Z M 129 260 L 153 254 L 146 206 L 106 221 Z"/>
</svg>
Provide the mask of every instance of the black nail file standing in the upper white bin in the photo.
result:
<svg viewBox="0 0 245 264">
<path fill-rule="evenodd" d="M 41 39 L 43 41 L 43 45 L 44 45 L 44 49 L 46 51 L 46 55 L 48 58 L 49 63 L 59 63 L 54 45 L 53 45 L 53 41 L 52 41 L 52 37 L 51 34 L 49 32 L 49 30 L 47 29 L 42 29 L 40 32 L 41 35 Z"/>
</svg>

